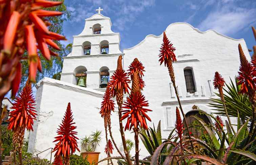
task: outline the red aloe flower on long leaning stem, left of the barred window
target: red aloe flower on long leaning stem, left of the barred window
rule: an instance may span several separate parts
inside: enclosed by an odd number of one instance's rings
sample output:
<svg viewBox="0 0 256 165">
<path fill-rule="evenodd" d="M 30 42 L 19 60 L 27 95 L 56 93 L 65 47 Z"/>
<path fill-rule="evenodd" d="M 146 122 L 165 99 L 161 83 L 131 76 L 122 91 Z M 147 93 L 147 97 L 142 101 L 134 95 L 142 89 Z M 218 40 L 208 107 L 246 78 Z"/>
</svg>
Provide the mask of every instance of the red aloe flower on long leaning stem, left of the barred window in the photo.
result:
<svg viewBox="0 0 256 165">
<path fill-rule="evenodd" d="M 162 47 L 160 48 L 160 54 L 159 54 L 159 62 L 160 65 L 162 63 L 165 63 L 165 66 L 167 64 L 168 59 L 172 59 L 172 61 L 176 61 L 176 56 L 174 54 L 174 51 L 176 50 L 173 46 L 173 44 L 170 43 L 169 39 L 167 38 L 165 32 L 164 32 L 164 37 L 163 37 L 163 44 Z"/>
</svg>

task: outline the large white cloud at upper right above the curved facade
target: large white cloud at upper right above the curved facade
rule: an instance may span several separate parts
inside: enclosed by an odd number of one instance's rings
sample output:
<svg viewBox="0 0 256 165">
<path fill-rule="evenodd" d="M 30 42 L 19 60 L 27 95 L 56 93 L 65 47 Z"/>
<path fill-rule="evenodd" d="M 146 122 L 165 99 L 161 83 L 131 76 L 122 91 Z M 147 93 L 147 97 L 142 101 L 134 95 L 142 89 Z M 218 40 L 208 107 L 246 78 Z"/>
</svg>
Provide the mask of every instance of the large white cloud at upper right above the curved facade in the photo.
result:
<svg viewBox="0 0 256 165">
<path fill-rule="evenodd" d="M 200 30 L 214 29 L 222 34 L 234 34 L 256 21 L 256 9 L 222 7 L 211 12 L 198 28 Z"/>
</svg>

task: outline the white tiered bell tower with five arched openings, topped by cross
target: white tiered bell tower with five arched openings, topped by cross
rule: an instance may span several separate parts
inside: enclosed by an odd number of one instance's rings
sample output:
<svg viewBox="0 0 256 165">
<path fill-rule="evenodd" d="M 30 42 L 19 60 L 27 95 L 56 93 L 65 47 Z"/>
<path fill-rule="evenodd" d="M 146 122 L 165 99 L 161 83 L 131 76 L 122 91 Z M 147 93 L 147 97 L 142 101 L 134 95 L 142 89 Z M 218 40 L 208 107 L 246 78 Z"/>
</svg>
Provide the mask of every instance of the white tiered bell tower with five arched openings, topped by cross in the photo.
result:
<svg viewBox="0 0 256 165">
<path fill-rule="evenodd" d="M 116 68 L 120 50 L 120 34 L 111 30 L 111 20 L 98 13 L 85 19 L 83 31 L 73 36 L 72 52 L 64 57 L 61 81 L 78 85 L 83 77 L 87 88 L 104 91 L 109 76 Z"/>
</svg>

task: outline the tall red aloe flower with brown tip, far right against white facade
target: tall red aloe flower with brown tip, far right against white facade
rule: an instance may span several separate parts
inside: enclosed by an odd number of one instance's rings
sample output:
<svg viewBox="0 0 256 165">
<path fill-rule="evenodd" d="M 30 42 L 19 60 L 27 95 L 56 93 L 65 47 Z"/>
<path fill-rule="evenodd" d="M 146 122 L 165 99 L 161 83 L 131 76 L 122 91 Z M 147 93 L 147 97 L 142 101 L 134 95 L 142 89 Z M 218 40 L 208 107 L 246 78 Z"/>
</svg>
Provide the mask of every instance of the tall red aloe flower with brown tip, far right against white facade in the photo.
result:
<svg viewBox="0 0 256 165">
<path fill-rule="evenodd" d="M 238 45 L 239 54 L 241 64 L 238 71 L 238 85 L 241 85 L 239 93 L 248 93 L 248 91 L 255 91 L 255 77 L 256 77 L 256 70 L 253 65 L 248 62 L 246 57 L 243 54 L 243 50 L 241 45 Z"/>
</svg>

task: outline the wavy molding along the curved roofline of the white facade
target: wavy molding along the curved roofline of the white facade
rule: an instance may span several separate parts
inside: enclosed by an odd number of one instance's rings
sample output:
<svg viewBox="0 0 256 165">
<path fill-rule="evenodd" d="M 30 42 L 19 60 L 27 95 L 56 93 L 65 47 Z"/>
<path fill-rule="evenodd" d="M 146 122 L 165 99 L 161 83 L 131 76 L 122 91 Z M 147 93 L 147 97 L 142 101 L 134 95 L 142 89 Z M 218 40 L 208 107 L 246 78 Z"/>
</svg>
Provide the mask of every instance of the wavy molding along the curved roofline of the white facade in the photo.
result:
<svg viewBox="0 0 256 165">
<path fill-rule="evenodd" d="M 200 31 L 199 29 L 194 28 L 192 25 L 190 25 L 190 24 L 188 24 L 188 23 L 186 23 L 186 22 L 175 22 L 175 23 L 172 23 L 172 24 L 170 24 L 169 26 L 167 26 L 167 28 L 166 28 L 165 31 L 167 31 L 168 28 L 170 28 L 172 25 L 175 25 L 175 24 L 184 24 L 184 25 L 188 25 L 188 26 L 190 26 L 193 30 L 195 30 L 195 31 L 197 31 L 198 33 L 201 33 L 201 34 L 205 34 L 205 33 L 207 33 L 207 32 L 213 31 L 213 32 L 215 32 L 217 35 L 220 35 L 220 36 L 225 37 L 225 38 L 228 38 L 228 39 L 233 39 L 233 40 L 236 40 L 236 41 L 243 40 L 243 38 L 241 38 L 241 39 L 234 39 L 234 38 L 228 37 L 228 36 L 226 36 L 226 35 L 223 35 L 223 34 L 218 33 L 218 32 L 215 31 L 215 30 L 212 30 L 212 29 L 207 30 L 207 31 Z M 158 36 L 157 36 L 157 35 L 153 35 L 153 34 L 149 34 L 149 35 L 147 35 L 140 43 L 138 43 L 137 45 L 135 45 L 135 46 L 133 46 L 133 47 L 131 47 L 131 48 L 124 49 L 124 51 L 125 51 L 125 50 L 131 50 L 131 49 L 133 49 L 133 48 L 135 48 L 135 47 L 137 47 L 137 46 L 140 46 L 142 43 L 144 43 L 144 42 L 146 41 L 146 39 L 147 39 L 148 37 L 162 38 L 162 37 L 163 37 L 163 33 L 162 33 L 161 35 L 158 35 Z"/>
</svg>

